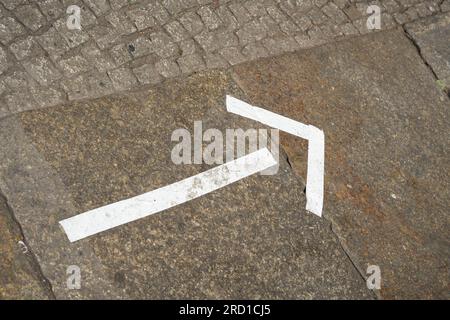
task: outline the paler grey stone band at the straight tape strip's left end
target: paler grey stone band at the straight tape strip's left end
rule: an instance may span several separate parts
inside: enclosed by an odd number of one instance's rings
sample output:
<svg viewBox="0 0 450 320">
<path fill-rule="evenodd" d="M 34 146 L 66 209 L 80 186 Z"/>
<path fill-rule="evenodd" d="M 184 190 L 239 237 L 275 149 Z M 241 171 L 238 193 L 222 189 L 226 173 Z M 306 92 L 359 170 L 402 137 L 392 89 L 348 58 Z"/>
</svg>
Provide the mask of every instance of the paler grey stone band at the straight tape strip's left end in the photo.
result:
<svg viewBox="0 0 450 320">
<path fill-rule="evenodd" d="M 101 276 L 105 270 L 92 248 L 81 243 L 70 244 L 61 233 L 54 213 L 70 214 L 77 212 L 77 209 L 54 169 L 28 140 L 20 121 L 14 117 L 3 119 L 0 136 L 2 158 L 6 154 L 11 156 L 3 158 L 0 164 L 0 189 L 5 192 L 18 222 L 24 219 L 29 222 L 26 226 L 21 224 L 23 235 L 56 298 L 121 296 Z M 47 235 L 44 236 L 44 233 Z M 49 264 L 43 263 L 52 260 Z M 71 265 L 85 266 L 82 276 L 85 284 L 81 290 L 67 288 L 66 271 Z"/>
</svg>

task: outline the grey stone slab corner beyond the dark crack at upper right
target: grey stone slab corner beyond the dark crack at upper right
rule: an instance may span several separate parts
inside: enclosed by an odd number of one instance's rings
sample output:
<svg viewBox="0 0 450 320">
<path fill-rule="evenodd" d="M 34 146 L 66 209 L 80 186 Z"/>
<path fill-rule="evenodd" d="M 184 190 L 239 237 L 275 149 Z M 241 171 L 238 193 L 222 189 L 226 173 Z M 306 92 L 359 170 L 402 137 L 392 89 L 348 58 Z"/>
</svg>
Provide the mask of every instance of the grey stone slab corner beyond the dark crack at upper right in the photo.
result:
<svg viewBox="0 0 450 320">
<path fill-rule="evenodd" d="M 407 24 L 405 29 L 442 86 L 450 89 L 450 13 Z"/>
</svg>

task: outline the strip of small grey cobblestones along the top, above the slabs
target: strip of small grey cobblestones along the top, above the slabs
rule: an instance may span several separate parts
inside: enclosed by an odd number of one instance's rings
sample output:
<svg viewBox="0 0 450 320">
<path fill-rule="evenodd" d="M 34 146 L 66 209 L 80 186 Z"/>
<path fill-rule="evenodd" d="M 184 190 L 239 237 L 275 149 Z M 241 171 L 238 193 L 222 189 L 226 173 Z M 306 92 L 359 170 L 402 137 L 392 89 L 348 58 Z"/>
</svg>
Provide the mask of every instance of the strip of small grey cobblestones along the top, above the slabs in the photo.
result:
<svg viewBox="0 0 450 320">
<path fill-rule="evenodd" d="M 69 30 L 69 5 L 81 30 Z M 145 87 L 450 10 L 450 0 L 0 0 L 0 117 Z"/>
</svg>

